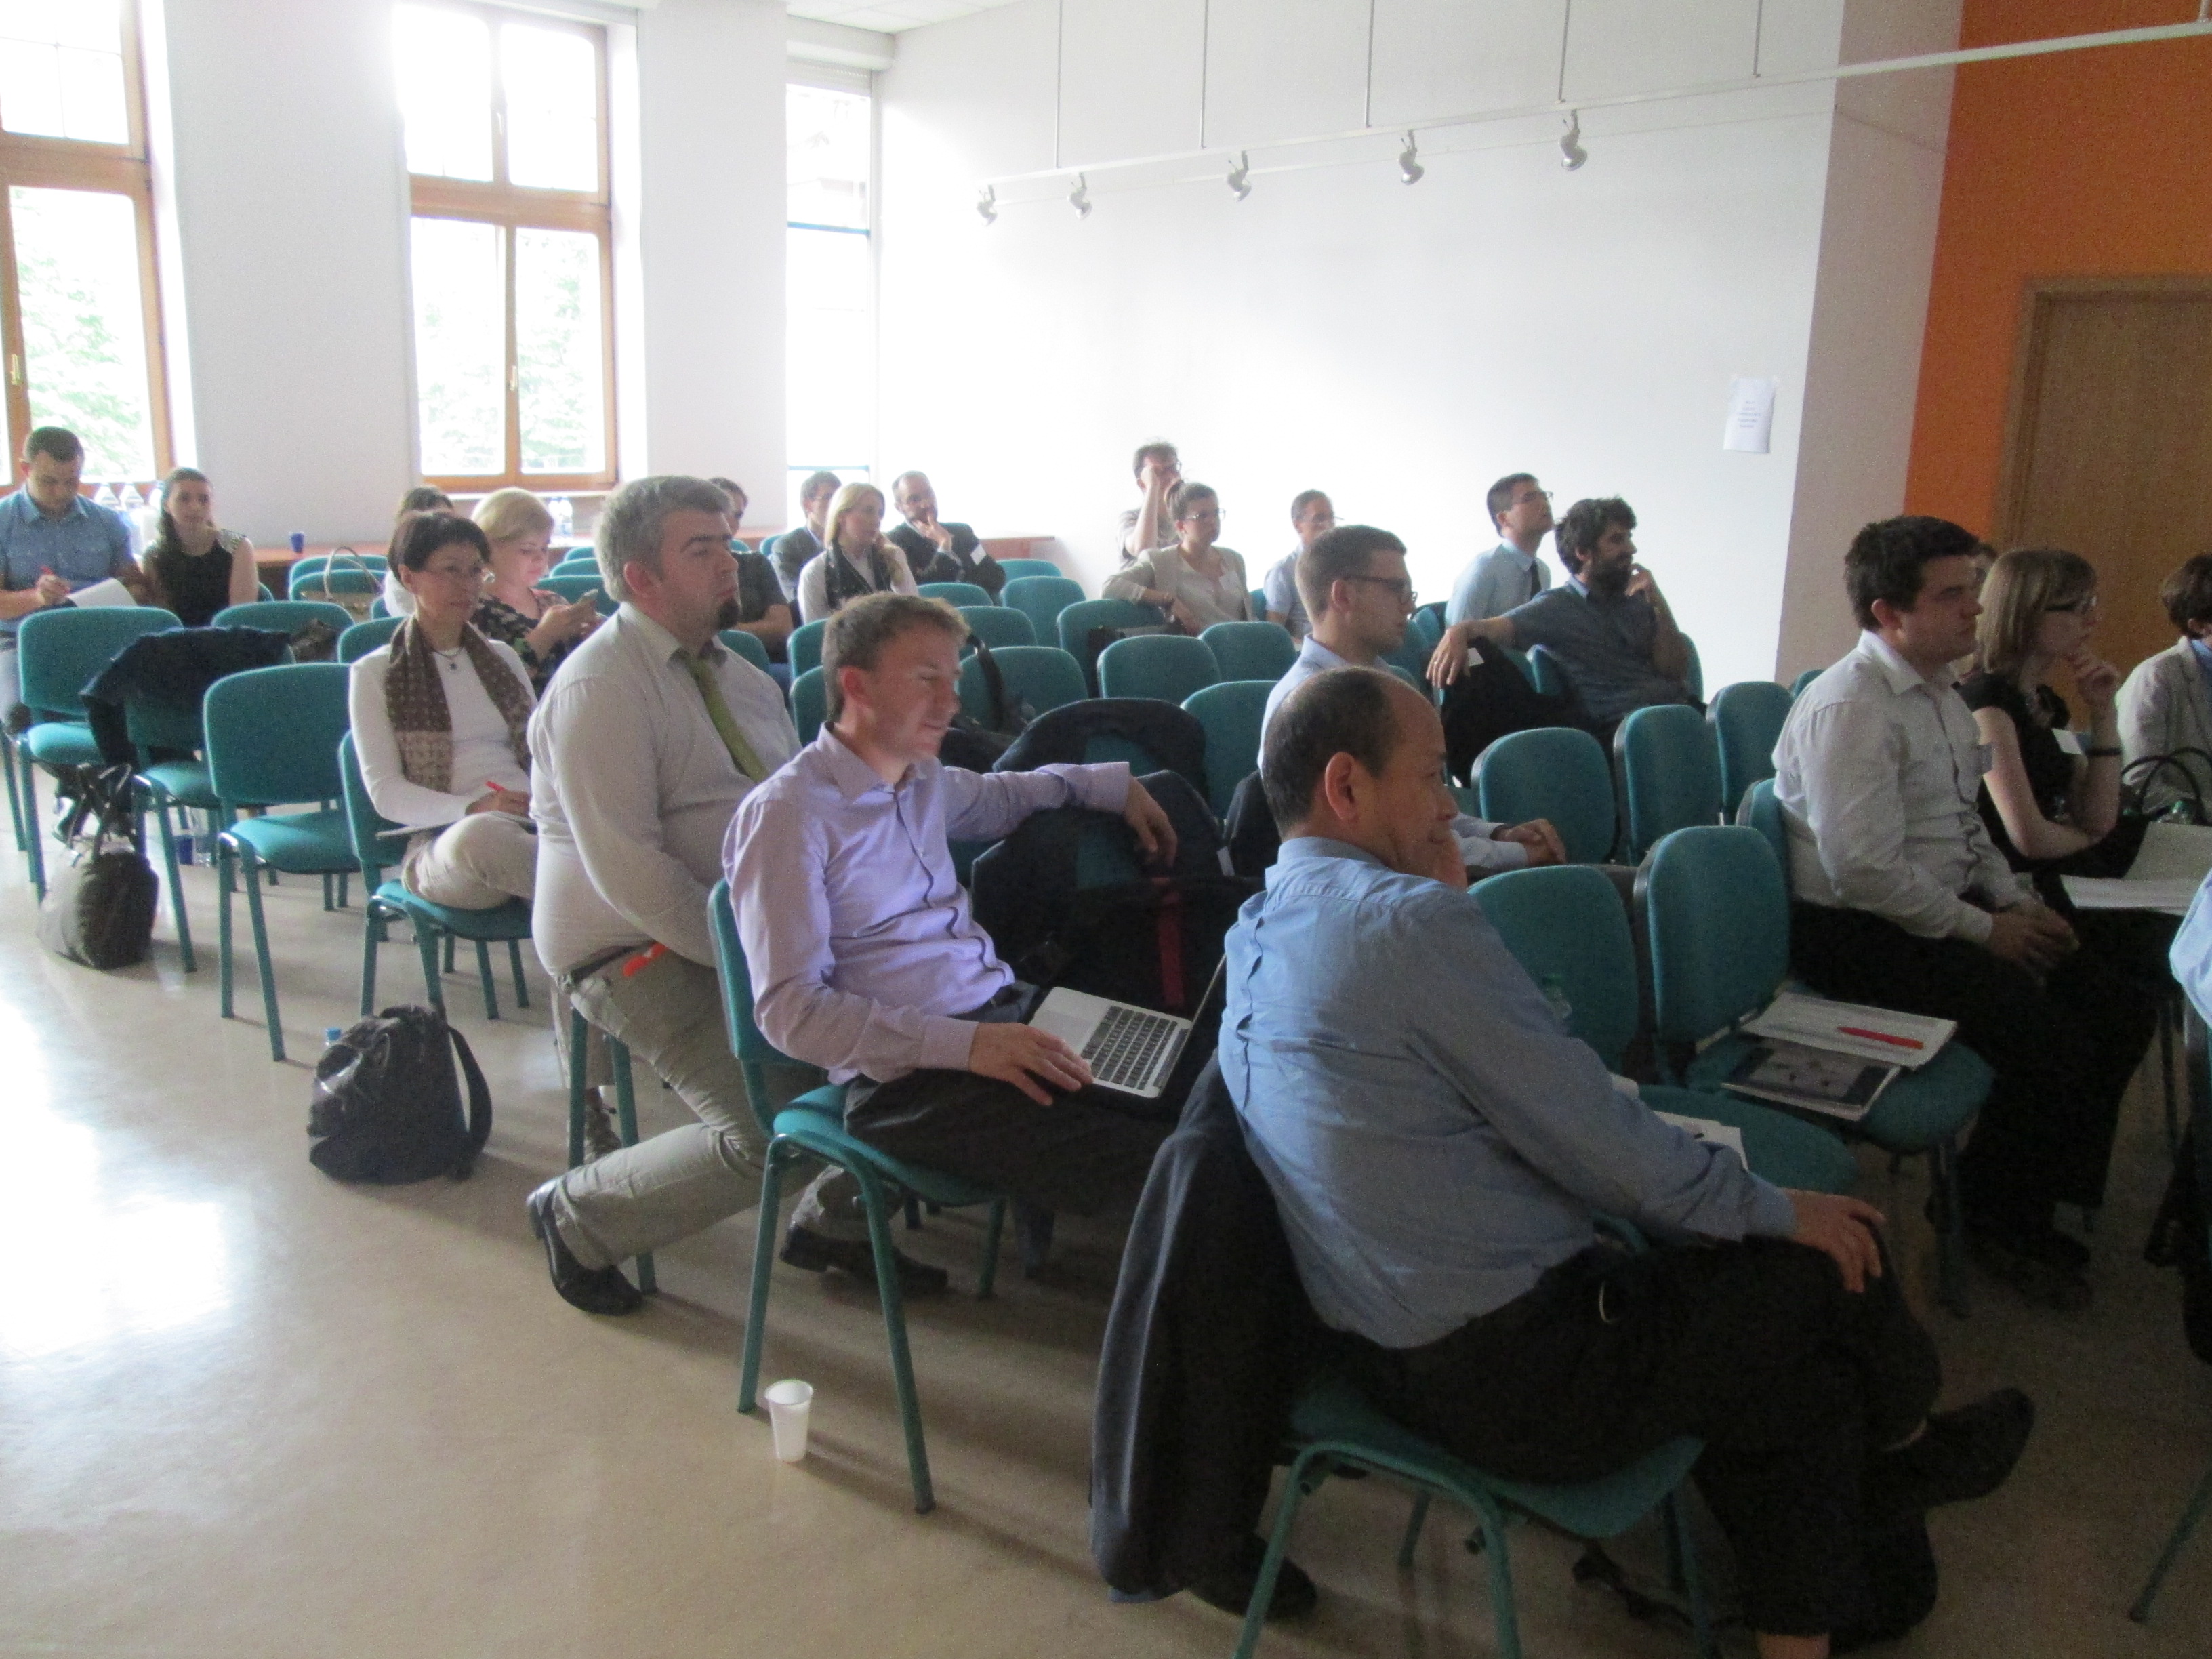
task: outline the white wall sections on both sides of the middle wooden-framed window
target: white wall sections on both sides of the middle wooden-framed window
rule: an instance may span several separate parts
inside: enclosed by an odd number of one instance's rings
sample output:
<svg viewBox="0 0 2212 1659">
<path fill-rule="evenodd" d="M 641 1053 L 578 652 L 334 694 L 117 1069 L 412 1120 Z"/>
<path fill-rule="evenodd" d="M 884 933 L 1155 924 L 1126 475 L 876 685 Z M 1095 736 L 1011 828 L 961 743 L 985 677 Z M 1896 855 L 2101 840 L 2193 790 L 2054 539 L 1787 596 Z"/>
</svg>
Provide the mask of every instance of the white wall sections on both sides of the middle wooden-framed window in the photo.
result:
<svg viewBox="0 0 2212 1659">
<path fill-rule="evenodd" d="M 380 542 L 416 478 L 392 0 L 159 4 L 179 460 L 257 542 Z M 613 29 L 637 111 L 615 199 L 624 473 L 781 498 L 783 22 L 776 0 L 659 0 Z"/>
</svg>

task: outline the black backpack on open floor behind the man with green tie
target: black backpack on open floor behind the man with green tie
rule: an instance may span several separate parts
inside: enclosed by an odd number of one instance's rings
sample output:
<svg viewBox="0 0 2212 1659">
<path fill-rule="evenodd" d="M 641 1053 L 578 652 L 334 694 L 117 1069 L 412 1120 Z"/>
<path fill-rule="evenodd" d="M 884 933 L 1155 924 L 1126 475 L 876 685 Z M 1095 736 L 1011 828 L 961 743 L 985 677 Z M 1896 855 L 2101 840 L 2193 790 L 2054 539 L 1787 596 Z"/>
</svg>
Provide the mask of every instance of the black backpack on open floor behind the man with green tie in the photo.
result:
<svg viewBox="0 0 2212 1659">
<path fill-rule="evenodd" d="M 453 1062 L 469 1079 L 462 1117 Z M 338 1181 L 467 1181 L 491 1137 L 491 1091 L 469 1042 L 436 1009 L 356 1020 L 314 1064 L 307 1161 Z"/>
</svg>

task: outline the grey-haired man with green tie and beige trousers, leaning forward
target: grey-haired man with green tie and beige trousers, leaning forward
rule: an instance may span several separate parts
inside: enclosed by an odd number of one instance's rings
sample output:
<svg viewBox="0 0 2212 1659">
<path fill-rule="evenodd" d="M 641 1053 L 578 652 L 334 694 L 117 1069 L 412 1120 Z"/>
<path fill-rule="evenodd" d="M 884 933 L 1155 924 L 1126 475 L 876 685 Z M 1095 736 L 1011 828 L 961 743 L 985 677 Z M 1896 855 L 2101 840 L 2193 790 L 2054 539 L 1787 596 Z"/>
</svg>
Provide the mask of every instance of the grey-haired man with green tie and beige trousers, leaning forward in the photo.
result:
<svg viewBox="0 0 2212 1659">
<path fill-rule="evenodd" d="M 703 478 L 639 478 L 608 495 L 593 544 L 622 608 L 531 717 L 538 956 L 699 1119 L 531 1194 L 553 1287 L 591 1314 L 641 1301 L 615 1263 L 761 1194 L 768 1148 L 723 1031 L 706 894 L 737 805 L 799 752 L 799 734 L 776 681 L 714 637 L 737 617 L 726 511 Z M 803 1267 L 874 1272 L 865 1232 L 796 1239 L 787 1259 L 792 1248 Z M 942 1270 L 907 1259 L 900 1274 L 909 1294 L 945 1285 Z"/>
</svg>

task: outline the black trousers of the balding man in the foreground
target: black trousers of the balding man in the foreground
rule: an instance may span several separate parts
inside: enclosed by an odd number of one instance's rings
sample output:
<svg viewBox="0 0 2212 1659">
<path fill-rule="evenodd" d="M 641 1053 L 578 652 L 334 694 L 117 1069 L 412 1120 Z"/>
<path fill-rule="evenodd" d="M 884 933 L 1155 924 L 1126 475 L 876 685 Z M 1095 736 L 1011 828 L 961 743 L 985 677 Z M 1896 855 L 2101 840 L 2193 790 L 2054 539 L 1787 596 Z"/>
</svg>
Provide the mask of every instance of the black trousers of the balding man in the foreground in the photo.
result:
<svg viewBox="0 0 2212 1659">
<path fill-rule="evenodd" d="M 1571 1482 L 1677 1436 L 1736 1551 L 1754 1630 L 1823 1635 L 1869 1604 L 1869 1453 L 1936 1402 L 1936 1347 L 1885 1274 L 1863 1294 L 1781 1239 L 1595 1248 L 1416 1349 L 1365 1349 L 1376 1402 L 1491 1473 Z"/>
</svg>

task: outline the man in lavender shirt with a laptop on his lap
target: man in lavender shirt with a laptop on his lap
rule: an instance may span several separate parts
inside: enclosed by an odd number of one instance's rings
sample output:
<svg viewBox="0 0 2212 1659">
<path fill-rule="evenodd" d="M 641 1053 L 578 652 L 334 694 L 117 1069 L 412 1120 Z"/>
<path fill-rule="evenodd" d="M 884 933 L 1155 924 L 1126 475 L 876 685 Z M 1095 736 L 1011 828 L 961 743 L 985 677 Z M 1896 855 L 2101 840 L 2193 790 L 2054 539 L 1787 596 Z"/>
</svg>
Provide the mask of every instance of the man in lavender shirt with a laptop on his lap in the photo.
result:
<svg viewBox="0 0 2212 1659">
<path fill-rule="evenodd" d="M 1077 1214 L 1135 1201 L 1166 1124 L 1115 1110 L 998 960 L 949 841 L 1042 807 L 1117 812 L 1148 858 L 1175 830 L 1128 768 L 962 772 L 938 763 L 960 710 L 967 624 L 878 593 L 830 619 L 827 723 L 730 823 L 723 863 L 770 1042 L 849 1084 L 845 1128 L 885 1152 Z M 823 1225 L 801 1206 L 794 1228 Z"/>
</svg>

